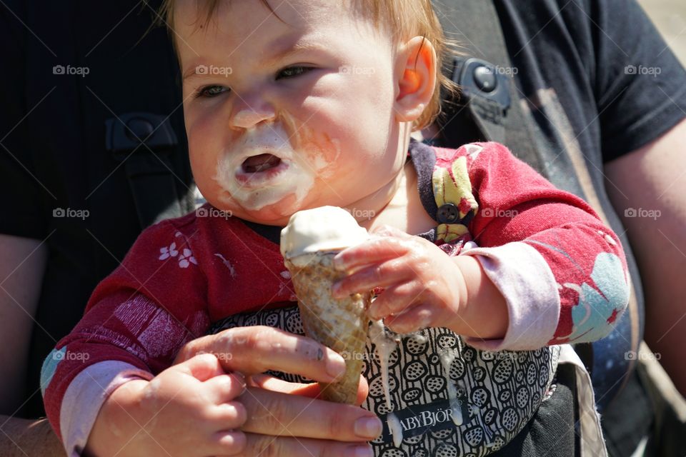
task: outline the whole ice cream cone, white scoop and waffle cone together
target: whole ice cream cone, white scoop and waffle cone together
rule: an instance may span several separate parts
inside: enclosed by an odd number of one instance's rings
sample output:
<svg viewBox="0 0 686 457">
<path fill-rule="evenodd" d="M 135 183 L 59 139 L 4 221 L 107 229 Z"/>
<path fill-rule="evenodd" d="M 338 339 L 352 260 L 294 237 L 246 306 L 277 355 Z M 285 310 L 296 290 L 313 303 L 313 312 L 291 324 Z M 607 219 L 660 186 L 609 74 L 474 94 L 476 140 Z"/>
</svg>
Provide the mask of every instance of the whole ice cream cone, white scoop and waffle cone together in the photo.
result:
<svg viewBox="0 0 686 457">
<path fill-rule="evenodd" d="M 331 287 L 344 272 L 334 256 L 369 238 L 347 211 L 335 206 L 298 211 L 281 231 L 281 253 L 291 273 L 305 333 L 345 359 L 345 376 L 319 383 L 322 398 L 353 404 L 362 372 L 372 294 L 334 298 Z"/>
</svg>

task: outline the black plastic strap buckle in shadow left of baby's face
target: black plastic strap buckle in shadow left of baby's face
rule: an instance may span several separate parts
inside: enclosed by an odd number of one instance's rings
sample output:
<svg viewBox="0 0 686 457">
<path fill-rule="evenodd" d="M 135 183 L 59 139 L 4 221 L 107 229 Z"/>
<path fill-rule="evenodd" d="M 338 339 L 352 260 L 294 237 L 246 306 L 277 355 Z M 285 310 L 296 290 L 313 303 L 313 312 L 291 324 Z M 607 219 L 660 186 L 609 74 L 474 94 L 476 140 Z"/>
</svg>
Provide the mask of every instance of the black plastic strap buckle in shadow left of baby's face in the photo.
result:
<svg viewBox="0 0 686 457">
<path fill-rule="evenodd" d="M 105 121 L 105 148 L 115 159 L 124 159 L 136 149 L 146 151 L 145 146 L 155 152 L 169 151 L 178 143 L 168 116 L 126 113 Z"/>
</svg>

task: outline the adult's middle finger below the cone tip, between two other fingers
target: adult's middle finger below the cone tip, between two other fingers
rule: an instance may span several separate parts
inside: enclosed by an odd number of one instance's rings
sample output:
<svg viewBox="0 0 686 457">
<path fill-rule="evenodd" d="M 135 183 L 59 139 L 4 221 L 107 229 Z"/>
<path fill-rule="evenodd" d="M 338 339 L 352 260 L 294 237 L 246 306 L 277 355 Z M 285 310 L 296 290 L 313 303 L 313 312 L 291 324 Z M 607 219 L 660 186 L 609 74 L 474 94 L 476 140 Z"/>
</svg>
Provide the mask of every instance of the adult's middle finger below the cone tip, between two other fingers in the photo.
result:
<svg viewBox="0 0 686 457">
<path fill-rule="evenodd" d="M 248 416 L 242 430 L 249 433 L 355 442 L 377 438 L 382 431 L 374 413 L 353 405 L 252 387 L 240 401 Z"/>
</svg>

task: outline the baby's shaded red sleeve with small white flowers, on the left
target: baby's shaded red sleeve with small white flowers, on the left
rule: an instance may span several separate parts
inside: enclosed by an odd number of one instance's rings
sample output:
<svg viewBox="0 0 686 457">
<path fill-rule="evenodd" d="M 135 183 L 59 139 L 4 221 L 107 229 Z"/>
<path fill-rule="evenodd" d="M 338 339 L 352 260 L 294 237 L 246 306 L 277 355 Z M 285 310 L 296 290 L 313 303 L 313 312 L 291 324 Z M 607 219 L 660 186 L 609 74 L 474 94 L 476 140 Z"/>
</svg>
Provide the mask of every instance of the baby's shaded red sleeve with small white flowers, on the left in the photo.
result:
<svg viewBox="0 0 686 457">
<path fill-rule="evenodd" d="M 194 224 L 163 221 L 144 231 L 44 361 L 46 413 L 69 456 L 79 455 L 115 388 L 171 366 L 187 341 L 207 331 L 207 281 L 195 238 Z"/>
</svg>

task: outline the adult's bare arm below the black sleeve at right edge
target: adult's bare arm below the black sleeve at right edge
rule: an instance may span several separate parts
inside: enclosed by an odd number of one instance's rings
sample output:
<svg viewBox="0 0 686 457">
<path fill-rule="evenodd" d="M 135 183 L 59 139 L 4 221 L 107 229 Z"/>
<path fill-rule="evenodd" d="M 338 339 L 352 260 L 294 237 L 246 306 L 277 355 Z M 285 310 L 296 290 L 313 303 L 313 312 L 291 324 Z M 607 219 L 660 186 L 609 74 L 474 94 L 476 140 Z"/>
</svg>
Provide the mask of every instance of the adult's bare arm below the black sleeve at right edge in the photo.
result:
<svg viewBox="0 0 686 457">
<path fill-rule="evenodd" d="M 645 341 L 686 396 L 686 120 L 605 165 L 645 293 Z"/>
</svg>

